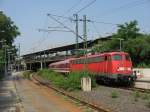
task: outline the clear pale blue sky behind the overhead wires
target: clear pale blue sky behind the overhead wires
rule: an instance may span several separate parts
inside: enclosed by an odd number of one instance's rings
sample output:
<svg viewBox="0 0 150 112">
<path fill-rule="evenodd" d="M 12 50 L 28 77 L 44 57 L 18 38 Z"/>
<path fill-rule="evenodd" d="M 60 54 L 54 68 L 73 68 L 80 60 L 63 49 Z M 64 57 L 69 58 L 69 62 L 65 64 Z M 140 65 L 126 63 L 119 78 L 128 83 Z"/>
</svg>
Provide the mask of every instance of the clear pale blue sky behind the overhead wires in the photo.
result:
<svg viewBox="0 0 150 112">
<path fill-rule="evenodd" d="M 24 55 L 75 43 L 75 35 L 71 32 L 47 31 L 58 26 L 60 30 L 67 30 L 47 14 L 67 17 L 53 16 L 75 30 L 73 14 L 92 1 L 78 13 L 80 19 L 86 15 L 88 20 L 96 21 L 87 23 L 88 40 L 111 35 L 117 31 L 116 24 L 132 20 L 138 21 L 141 32 L 150 33 L 150 0 L 0 0 L 0 10 L 19 27 L 21 35 L 14 44 L 20 44 L 21 55 Z M 83 36 L 82 21 L 79 22 L 79 35 Z"/>
</svg>

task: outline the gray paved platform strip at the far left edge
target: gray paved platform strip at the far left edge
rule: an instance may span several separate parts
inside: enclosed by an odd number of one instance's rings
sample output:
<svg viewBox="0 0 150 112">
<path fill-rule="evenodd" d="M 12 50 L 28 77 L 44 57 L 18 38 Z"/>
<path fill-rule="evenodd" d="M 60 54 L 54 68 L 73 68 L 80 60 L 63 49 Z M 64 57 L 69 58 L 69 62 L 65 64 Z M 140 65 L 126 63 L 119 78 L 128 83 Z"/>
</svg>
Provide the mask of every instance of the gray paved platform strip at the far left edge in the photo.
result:
<svg viewBox="0 0 150 112">
<path fill-rule="evenodd" d="M 22 112 L 13 76 L 0 81 L 0 112 Z"/>
</svg>

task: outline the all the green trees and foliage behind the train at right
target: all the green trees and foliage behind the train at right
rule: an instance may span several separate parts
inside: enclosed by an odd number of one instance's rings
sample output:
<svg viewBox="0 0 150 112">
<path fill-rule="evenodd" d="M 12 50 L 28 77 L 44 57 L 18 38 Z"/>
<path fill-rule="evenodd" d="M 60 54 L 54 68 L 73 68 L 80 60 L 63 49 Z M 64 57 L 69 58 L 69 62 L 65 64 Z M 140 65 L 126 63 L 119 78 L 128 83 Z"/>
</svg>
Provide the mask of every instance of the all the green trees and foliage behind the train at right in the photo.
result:
<svg viewBox="0 0 150 112">
<path fill-rule="evenodd" d="M 122 51 L 128 52 L 135 67 L 150 67 L 150 35 L 139 33 L 137 21 L 118 26 L 110 40 L 99 42 L 92 48 L 93 52 L 118 51 L 120 39 Z"/>
</svg>

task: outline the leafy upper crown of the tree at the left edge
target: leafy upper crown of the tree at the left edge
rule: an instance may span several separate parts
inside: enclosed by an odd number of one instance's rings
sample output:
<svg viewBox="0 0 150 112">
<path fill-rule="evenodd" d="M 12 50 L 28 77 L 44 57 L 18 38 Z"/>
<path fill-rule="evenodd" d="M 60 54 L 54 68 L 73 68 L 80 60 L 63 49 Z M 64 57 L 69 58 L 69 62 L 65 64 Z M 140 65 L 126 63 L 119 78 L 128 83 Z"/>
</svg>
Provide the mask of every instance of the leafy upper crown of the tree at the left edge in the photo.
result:
<svg viewBox="0 0 150 112">
<path fill-rule="evenodd" d="M 10 17 L 0 11 L 0 41 L 6 40 L 6 44 L 11 46 L 18 35 L 20 35 L 18 27 Z"/>
</svg>

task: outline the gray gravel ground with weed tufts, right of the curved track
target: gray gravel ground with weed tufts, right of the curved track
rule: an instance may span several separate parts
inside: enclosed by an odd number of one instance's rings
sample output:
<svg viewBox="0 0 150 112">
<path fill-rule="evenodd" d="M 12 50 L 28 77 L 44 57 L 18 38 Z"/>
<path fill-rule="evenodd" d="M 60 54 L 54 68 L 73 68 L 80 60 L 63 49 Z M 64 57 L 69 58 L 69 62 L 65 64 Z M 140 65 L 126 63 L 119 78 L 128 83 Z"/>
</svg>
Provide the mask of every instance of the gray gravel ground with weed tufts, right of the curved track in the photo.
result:
<svg viewBox="0 0 150 112">
<path fill-rule="evenodd" d="M 100 85 L 90 92 L 74 91 L 70 94 L 113 112 L 150 112 L 150 94 Z"/>
</svg>

